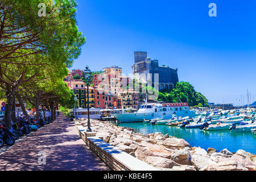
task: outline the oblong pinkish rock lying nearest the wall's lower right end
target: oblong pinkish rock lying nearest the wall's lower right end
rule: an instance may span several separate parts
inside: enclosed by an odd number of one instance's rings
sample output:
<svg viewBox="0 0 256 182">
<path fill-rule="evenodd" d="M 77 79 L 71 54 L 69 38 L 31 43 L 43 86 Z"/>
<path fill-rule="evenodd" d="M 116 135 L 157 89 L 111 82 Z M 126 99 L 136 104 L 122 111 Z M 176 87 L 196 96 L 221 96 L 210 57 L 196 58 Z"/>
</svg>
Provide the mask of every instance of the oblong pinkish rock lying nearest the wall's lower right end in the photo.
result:
<svg viewBox="0 0 256 182">
<path fill-rule="evenodd" d="M 161 158 L 158 156 L 148 156 L 145 161 L 154 167 L 172 168 L 174 166 L 179 166 L 179 164 L 175 163 L 171 159 Z"/>
</svg>

